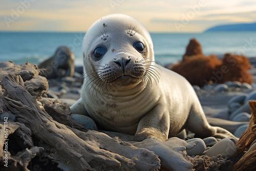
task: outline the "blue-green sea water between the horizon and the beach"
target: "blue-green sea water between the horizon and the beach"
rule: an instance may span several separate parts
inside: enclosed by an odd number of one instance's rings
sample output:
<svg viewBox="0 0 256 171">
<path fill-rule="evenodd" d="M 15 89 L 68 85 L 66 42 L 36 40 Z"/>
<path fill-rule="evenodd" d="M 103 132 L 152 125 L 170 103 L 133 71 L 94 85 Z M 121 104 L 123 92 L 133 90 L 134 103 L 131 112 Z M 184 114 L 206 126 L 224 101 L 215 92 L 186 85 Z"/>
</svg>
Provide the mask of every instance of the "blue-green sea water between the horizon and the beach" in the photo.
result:
<svg viewBox="0 0 256 171">
<path fill-rule="evenodd" d="M 69 47 L 75 54 L 75 65 L 82 65 L 82 39 L 85 33 L 0 32 L 0 61 L 12 60 L 16 65 L 38 64 L 52 56 L 59 46 Z M 205 55 L 225 53 L 256 57 L 256 32 L 151 33 L 155 59 L 161 65 L 182 59 L 190 38 L 196 38 Z"/>
</svg>

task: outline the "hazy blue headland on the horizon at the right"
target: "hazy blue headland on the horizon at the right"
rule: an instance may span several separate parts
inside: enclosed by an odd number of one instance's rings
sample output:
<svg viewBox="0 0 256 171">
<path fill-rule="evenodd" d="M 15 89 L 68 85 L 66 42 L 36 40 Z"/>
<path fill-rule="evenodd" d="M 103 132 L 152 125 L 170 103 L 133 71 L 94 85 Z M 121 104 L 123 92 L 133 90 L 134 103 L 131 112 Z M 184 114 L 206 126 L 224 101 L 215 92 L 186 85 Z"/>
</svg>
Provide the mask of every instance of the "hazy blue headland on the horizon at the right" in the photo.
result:
<svg viewBox="0 0 256 171">
<path fill-rule="evenodd" d="M 217 31 L 256 31 L 256 23 L 220 25 L 207 29 L 205 32 Z"/>
</svg>

